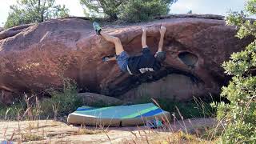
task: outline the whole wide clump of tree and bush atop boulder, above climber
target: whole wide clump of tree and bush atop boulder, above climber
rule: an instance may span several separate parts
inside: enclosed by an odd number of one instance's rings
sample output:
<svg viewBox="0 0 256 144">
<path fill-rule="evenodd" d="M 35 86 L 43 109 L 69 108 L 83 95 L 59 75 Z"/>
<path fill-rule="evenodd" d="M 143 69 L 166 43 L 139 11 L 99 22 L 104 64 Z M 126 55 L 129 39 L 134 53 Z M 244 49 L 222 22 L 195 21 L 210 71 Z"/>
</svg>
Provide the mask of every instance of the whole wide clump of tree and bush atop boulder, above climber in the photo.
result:
<svg viewBox="0 0 256 144">
<path fill-rule="evenodd" d="M 176 0 L 80 0 L 85 14 L 97 17 L 106 14 L 113 22 L 121 18 L 125 22 L 147 21 L 154 16 L 168 14 Z M 89 12 L 88 12 L 89 11 Z M 103 16 L 104 17 L 104 16 Z"/>
</svg>

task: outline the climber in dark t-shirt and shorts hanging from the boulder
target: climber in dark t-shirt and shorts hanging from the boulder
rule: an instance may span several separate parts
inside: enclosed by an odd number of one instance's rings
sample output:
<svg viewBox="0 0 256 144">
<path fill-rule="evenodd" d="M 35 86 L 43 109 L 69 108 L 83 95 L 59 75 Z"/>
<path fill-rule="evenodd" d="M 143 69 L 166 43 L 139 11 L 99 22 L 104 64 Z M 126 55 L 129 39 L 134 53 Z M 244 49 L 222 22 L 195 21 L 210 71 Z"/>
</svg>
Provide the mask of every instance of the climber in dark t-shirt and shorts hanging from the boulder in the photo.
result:
<svg viewBox="0 0 256 144">
<path fill-rule="evenodd" d="M 164 35 L 166 33 L 166 27 L 160 28 L 160 42 L 158 44 L 158 51 L 156 54 L 150 53 L 149 46 L 146 45 L 146 27 L 142 27 L 142 54 L 139 56 L 130 57 L 129 54 L 123 49 L 122 43 L 119 38 L 111 36 L 102 32 L 102 28 L 97 22 L 93 23 L 96 34 L 101 35 L 108 42 L 114 43 L 116 56 L 104 57 L 103 62 L 109 62 L 116 60 L 119 68 L 128 72 L 129 74 L 144 74 L 148 71 L 154 72 L 161 68 L 161 62 L 166 59 L 166 53 L 162 51 Z"/>
</svg>

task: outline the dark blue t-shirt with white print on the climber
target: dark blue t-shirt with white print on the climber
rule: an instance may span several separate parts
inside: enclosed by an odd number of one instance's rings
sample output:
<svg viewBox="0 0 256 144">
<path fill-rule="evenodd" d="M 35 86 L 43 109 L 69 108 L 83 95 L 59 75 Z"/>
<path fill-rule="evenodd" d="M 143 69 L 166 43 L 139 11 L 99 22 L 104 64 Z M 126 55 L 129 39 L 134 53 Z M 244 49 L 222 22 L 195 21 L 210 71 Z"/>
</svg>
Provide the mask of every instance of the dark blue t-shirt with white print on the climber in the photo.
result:
<svg viewBox="0 0 256 144">
<path fill-rule="evenodd" d="M 142 55 L 128 59 L 128 67 L 132 74 L 144 74 L 147 71 L 160 70 L 161 63 L 154 58 L 149 48 L 143 48 Z"/>
</svg>

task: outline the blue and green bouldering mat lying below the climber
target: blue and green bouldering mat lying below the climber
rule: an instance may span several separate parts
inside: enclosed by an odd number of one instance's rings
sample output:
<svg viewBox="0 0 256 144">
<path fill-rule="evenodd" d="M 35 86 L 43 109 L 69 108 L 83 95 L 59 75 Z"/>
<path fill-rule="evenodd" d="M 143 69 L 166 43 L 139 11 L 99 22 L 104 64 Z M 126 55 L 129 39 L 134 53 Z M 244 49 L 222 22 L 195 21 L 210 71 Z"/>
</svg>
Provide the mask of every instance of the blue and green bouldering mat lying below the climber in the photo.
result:
<svg viewBox="0 0 256 144">
<path fill-rule="evenodd" d="M 67 122 L 88 126 L 140 126 L 145 125 L 146 121 L 154 119 L 166 121 L 166 118 L 170 118 L 169 112 L 153 103 L 146 103 L 102 108 L 82 106 L 69 114 Z"/>
</svg>

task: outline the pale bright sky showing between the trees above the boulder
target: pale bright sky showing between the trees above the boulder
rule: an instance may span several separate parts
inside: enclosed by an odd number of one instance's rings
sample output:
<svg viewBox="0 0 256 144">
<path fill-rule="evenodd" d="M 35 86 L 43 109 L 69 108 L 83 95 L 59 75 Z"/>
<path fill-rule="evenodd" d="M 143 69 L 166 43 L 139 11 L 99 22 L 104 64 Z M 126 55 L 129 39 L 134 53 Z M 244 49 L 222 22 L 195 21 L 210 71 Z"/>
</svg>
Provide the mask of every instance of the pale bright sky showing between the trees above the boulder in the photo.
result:
<svg viewBox="0 0 256 144">
<path fill-rule="evenodd" d="M 10 5 L 16 0 L 0 0 L 0 26 L 3 26 L 10 11 Z M 84 16 L 80 0 L 56 0 L 70 9 L 71 16 Z M 226 15 L 230 10 L 243 10 L 246 0 L 178 0 L 170 7 L 171 14 L 186 14 L 192 10 L 194 14 Z"/>
</svg>

